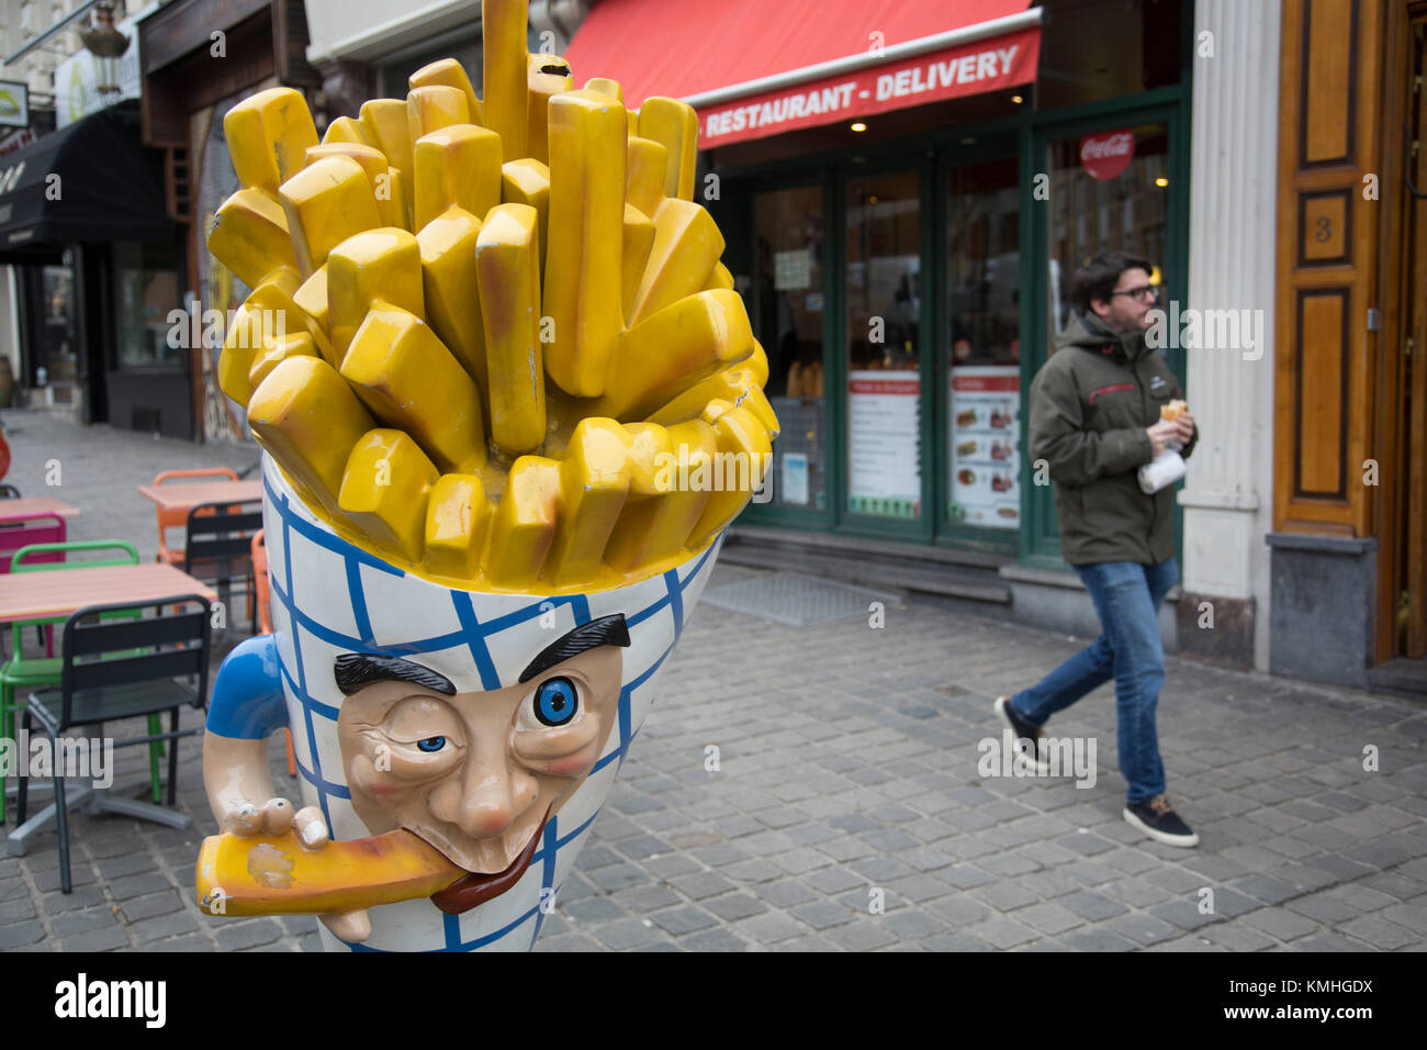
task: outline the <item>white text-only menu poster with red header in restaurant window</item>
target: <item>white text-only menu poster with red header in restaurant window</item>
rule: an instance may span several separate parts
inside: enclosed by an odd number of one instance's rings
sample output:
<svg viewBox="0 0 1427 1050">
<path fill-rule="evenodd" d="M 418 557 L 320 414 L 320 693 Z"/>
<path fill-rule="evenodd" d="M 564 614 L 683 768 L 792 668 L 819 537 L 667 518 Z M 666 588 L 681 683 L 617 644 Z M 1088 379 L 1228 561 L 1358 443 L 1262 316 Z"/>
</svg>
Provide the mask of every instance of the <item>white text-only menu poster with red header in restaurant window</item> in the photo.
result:
<svg viewBox="0 0 1427 1050">
<path fill-rule="evenodd" d="M 848 509 L 916 520 L 922 514 L 920 380 L 915 371 L 848 374 Z"/>
</svg>

